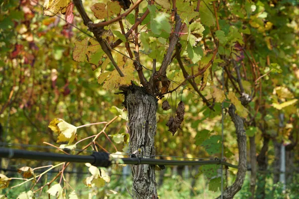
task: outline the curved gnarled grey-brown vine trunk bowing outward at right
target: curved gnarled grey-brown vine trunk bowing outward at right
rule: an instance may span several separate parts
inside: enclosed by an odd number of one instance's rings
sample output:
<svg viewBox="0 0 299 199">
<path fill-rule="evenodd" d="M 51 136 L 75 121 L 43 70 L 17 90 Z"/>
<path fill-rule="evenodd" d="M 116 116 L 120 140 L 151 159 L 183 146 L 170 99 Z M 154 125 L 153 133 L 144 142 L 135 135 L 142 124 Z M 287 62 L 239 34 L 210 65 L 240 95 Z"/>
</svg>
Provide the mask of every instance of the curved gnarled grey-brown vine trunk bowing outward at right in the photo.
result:
<svg viewBox="0 0 299 199">
<path fill-rule="evenodd" d="M 246 132 L 244 129 L 244 123 L 242 118 L 235 113 L 236 107 L 231 104 L 228 110 L 229 115 L 232 118 L 232 121 L 236 127 L 237 134 L 237 142 L 239 148 L 239 165 L 238 165 L 238 173 L 235 182 L 229 186 L 223 192 L 223 199 L 232 199 L 235 194 L 241 190 L 242 185 L 245 180 L 245 175 L 247 171 L 247 149 L 246 149 Z M 221 196 L 218 197 L 220 199 Z"/>
</svg>

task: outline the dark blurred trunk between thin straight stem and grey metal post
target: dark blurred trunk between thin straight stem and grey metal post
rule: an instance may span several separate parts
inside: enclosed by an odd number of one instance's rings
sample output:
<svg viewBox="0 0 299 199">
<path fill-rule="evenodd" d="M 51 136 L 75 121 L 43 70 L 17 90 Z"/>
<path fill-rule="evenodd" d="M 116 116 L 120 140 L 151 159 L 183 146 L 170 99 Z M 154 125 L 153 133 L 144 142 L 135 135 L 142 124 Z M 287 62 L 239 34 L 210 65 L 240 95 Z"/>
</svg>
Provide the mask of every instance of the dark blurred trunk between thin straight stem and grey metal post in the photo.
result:
<svg viewBox="0 0 299 199">
<path fill-rule="evenodd" d="M 266 171 L 268 167 L 268 161 L 267 161 L 267 152 L 269 148 L 269 141 L 270 139 L 268 137 L 264 137 L 264 144 L 262 147 L 262 150 L 260 154 L 257 157 L 258 166 L 259 166 L 259 178 L 257 183 L 257 191 L 256 191 L 256 198 L 257 199 L 264 199 L 265 196 L 265 187 L 266 187 Z"/>
</svg>

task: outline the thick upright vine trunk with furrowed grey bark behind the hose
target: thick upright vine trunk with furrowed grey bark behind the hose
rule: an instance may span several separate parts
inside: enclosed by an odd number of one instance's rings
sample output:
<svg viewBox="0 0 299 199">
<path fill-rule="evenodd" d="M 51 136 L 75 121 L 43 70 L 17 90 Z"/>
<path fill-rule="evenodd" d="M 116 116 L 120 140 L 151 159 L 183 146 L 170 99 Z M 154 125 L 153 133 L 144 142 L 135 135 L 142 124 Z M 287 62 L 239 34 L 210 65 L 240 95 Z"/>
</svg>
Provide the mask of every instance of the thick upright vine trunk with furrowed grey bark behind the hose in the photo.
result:
<svg viewBox="0 0 299 199">
<path fill-rule="evenodd" d="M 154 158 L 157 100 L 143 87 L 121 87 L 128 109 L 129 153 L 141 158 Z M 151 157 L 150 157 L 151 156 Z M 157 199 L 154 165 L 133 165 L 133 198 Z"/>
</svg>

